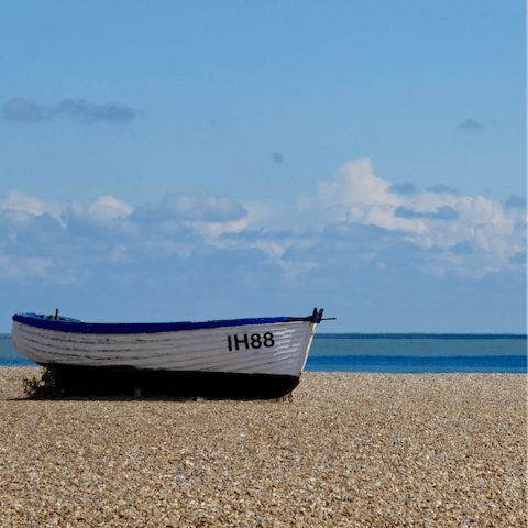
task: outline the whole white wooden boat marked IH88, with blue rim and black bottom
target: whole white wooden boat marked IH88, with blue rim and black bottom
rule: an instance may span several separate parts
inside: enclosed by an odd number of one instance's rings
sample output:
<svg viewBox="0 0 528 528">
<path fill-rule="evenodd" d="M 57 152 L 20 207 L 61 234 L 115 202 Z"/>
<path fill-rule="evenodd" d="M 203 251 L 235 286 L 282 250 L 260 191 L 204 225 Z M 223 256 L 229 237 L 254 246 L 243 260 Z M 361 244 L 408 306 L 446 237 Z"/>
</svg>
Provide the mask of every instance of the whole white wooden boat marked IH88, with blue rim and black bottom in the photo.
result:
<svg viewBox="0 0 528 528">
<path fill-rule="evenodd" d="M 16 314 L 12 340 L 65 396 L 272 399 L 299 384 L 322 312 L 146 323 Z"/>
</svg>

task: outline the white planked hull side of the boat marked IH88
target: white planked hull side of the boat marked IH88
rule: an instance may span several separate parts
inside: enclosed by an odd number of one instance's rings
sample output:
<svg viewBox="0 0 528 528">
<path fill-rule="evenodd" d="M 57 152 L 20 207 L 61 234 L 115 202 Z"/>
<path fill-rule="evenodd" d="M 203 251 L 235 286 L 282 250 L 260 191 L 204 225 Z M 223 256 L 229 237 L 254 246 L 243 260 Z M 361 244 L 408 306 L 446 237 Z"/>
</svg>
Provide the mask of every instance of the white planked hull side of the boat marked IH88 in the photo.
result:
<svg viewBox="0 0 528 528">
<path fill-rule="evenodd" d="M 12 339 L 22 354 L 42 365 L 298 377 L 316 328 L 316 322 L 305 320 L 157 333 L 94 334 L 13 321 Z M 264 345 L 264 334 L 268 333 L 273 334 L 273 345 L 272 339 Z M 252 346 L 251 336 L 255 334 L 260 336 L 258 348 Z"/>
</svg>

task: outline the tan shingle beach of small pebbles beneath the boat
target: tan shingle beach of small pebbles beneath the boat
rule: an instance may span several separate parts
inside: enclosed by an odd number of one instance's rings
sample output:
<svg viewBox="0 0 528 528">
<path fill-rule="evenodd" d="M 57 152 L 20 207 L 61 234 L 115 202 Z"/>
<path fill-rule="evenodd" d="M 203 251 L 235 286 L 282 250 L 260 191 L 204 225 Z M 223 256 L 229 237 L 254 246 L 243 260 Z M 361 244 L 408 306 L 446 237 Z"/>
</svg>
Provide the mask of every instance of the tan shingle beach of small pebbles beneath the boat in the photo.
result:
<svg viewBox="0 0 528 528">
<path fill-rule="evenodd" d="M 526 374 L 306 373 L 293 402 L 28 400 L 1 527 L 528 526 Z"/>
</svg>

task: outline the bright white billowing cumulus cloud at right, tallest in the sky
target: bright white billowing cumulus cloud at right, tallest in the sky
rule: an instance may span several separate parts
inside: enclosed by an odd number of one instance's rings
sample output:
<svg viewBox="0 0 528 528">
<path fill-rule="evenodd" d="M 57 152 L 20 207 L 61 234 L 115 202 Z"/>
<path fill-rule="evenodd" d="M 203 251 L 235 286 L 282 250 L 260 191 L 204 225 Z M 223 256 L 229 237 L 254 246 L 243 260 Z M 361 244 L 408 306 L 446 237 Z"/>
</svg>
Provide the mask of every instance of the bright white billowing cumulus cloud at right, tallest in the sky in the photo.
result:
<svg viewBox="0 0 528 528">
<path fill-rule="evenodd" d="M 326 216 L 328 223 L 332 218 L 382 228 L 387 239 L 404 234 L 421 250 L 433 251 L 422 255 L 425 271 L 430 266 L 441 274 L 452 270 L 482 278 L 512 267 L 509 258 L 522 246 L 526 230 L 516 230 L 519 212 L 505 209 L 501 198 L 432 191 L 402 196 L 391 188 L 391 182 L 374 175 L 369 160 L 359 160 L 344 164 L 334 180 L 322 182 L 316 196 L 301 197 L 299 209 L 304 218 Z M 320 226 L 315 222 L 315 228 Z M 449 253 L 463 243 L 479 257 Z"/>
</svg>

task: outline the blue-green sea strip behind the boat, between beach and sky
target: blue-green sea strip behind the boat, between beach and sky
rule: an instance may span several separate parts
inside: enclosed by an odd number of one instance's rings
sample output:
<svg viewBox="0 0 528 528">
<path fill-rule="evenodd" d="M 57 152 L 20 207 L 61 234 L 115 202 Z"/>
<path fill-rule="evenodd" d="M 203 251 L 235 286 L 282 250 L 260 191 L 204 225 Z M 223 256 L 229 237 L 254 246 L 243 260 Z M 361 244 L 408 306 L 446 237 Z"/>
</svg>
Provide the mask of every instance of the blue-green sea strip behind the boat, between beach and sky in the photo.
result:
<svg viewBox="0 0 528 528">
<path fill-rule="evenodd" d="M 0 366 L 36 366 L 0 334 Z M 528 374 L 528 336 L 470 333 L 320 333 L 306 372 Z"/>
</svg>

